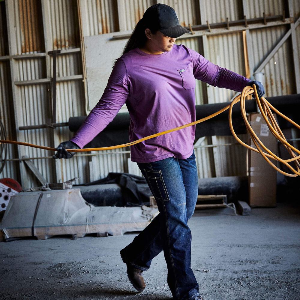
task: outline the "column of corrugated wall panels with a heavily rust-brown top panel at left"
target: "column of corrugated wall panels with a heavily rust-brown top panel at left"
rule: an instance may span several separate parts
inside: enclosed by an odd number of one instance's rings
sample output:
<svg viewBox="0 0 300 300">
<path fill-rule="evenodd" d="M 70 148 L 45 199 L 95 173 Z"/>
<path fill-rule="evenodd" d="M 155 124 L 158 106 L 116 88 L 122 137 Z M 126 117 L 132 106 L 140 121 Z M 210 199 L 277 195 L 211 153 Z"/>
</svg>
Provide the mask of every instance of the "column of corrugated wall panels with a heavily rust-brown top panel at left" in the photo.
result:
<svg viewBox="0 0 300 300">
<path fill-rule="evenodd" d="M 44 51 L 43 26 L 41 26 L 41 7 L 38 1 L 10 1 L 7 19 L 10 22 L 10 55 L 35 54 Z M 45 77 L 45 66 L 43 58 L 31 58 L 12 60 L 13 81 L 26 81 Z M 13 84 L 14 84 L 13 82 Z M 19 126 L 45 124 L 49 122 L 49 101 L 47 85 L 15 85 L 13 86 L 15 96 L 15 117 Z M 50 131 L 16 129 L 17 139 L 27 143 L 51 146 Z M 19 146 L 19 157 L 23 155 L 29 158 L 45 157 L 48 151 L 31 147 Z M 49 168 L 45 159 L 32 161 L 35 167 L 49 181 L 53 181 L 53 170 Z M 24 164 L 23 162 L 21 164 Z M 23 188 L 40 185 L 28 168 L 23 168 Z"/>
</svg>

